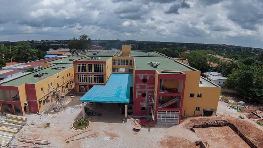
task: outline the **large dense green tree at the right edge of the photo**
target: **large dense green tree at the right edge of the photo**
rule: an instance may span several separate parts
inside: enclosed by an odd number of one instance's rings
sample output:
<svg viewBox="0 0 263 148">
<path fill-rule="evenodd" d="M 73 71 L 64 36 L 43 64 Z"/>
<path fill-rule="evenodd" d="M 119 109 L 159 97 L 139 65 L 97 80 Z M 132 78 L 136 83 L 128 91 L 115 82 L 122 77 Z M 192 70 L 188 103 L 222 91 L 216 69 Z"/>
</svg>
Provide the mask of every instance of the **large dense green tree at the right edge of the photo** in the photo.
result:
<svg viewBox="0 0 263 148">
<path fill-rule="evenodd" d="M 225 87 L 243 96 L 263 97 L 263 67 L 242 65 L 228 76 Z"/>
</svg>

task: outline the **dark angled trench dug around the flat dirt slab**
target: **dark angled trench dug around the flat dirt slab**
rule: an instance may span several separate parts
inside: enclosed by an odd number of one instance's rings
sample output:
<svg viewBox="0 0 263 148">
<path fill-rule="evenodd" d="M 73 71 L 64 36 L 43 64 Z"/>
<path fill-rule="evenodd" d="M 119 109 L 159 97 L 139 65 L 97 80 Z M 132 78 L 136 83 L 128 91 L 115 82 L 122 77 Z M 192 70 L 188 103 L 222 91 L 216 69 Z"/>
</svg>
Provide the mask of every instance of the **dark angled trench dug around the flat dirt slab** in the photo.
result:
<svg viewBox="0 0 263 148">
<path fill-rule="evenodd" d="M 250 141 L 241 131 L 238 130 L 238 128 L 232 124 L 229 123 L 226 120 L 215 120 L 215 121 L 209 121 L 209 122 L 203 122 L 202 124 L 195 124 L 191 127 L 191 131 L 194 131 L 194 128 L 206 128 L 206 127 L 222 127 L 222 126 L 229 126 L 243 141 L 246 142 L 247 145 L 249 145 L 252 148 L 256 148 L 257 146 Z M 201 147 L 205 147 L 203 143 L 200 143 Z"/>
</svg>

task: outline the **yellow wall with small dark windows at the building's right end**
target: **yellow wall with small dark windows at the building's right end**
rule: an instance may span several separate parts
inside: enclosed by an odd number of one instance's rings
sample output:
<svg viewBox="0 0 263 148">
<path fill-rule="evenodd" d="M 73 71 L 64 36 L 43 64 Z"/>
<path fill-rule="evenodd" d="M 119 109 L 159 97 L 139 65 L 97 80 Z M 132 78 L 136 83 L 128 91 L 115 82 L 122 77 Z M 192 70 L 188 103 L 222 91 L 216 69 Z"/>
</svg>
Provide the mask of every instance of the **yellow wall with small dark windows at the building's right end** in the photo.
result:
<svg viewBox="0 0 263 148">
<path fill-rule="evenodd" d="M 184 71 L 184 73 L 186 74 L 186 82 L 182 116 L 193 116 L 196 107 L 200 107 L 200 111 L 195 111 L 195 115 L 202 115 L 203 109 L 217 110 L 221 87 L 199 87 L 199 71 Z M 190 98 L 190 93 L 194 93 L 194 98 Z M 202 93 L 202 98 L 197 98 L 198 93 Z"/>
</svg>

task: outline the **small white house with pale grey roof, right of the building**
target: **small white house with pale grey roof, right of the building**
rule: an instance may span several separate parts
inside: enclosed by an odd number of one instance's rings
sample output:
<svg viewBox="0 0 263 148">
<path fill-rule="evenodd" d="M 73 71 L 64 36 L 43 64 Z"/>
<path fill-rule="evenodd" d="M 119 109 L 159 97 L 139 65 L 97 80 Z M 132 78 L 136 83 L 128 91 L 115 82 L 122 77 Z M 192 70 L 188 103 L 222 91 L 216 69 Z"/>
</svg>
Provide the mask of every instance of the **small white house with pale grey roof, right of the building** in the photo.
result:
<svg viewBox="0 0 263 148">
<path fill-rule="evenodd" d="M 223 77 L 221 73 L 219 72 L 204 72 L 202 73 L 203 77 L 205 77 L 207 80 L 219 85 L 223 86 L 226 81 L 226 77 Z"/>
</svg>

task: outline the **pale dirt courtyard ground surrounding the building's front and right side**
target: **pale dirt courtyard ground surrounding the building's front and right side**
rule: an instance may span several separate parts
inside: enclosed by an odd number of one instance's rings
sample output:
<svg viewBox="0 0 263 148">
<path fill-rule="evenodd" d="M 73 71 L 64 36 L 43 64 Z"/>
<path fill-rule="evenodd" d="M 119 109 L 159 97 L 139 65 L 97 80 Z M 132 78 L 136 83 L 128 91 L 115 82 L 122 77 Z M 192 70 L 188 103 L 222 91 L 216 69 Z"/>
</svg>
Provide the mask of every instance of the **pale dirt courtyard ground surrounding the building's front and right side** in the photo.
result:
<svg viewBox="0 0 263 148">
<path fill-rule="evenodd" d="M 188 117 L 178 126 L 154 126 L 143 128 L 140 131 L 133 131 L 133 122 L 128 119 L 123 122 L 124 115 L 120 114 L 120 109 L 116 104 L 86 104 L 90 110 L 100 113 L 101 116 L 86 116 L 90 121 L 90 127 L 83 131 L 76 131 L 71 128 L 71 124 L 82 117 L 81 103 L 78 101 L 81 95 L 71 98 L 66 95 L 64 98 L 65 107 L 59 112 L 50 112 L 54 106 L 50 106 L 40 114 L 27 114 L 27 125 L 22 128 L 12 141 L 15 145 L 32 144 L 17 143 L 18 136 L 39 137 L 48 140 L 51 148 L 72 148 L 72 147 L 199 147 L 195 145 L 200 141 L 197 134 L 191 131 L 194 125 L 204 123 L 215 123 L 225 120 L 244 133 L 256 146 L 263 146 L 263 128 L 248 118 L 240 119 L 237 116 L 246 117 L 243 113 L 231 110 L 228 103 L 219 101 L 217 116 L 213 117 Z M 73 101 L 72 101 L 73 100 Z M 230 117 L 231 115 L 232 117 Z M 2 119 L 2 118 L 1 118 Z M 50 123 L 49 127 L 45 127 Z M 81 132 L 91 130 L 80 134 Z M 74 136 L 80 134 L 78 136 Z M 94 134 L 95 136 L 89 137 Z M 66 139 L 71 138 L 69 143 Z M 35 145 L 36 147 L 36 145 Z"/>
</svg>

